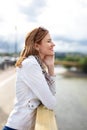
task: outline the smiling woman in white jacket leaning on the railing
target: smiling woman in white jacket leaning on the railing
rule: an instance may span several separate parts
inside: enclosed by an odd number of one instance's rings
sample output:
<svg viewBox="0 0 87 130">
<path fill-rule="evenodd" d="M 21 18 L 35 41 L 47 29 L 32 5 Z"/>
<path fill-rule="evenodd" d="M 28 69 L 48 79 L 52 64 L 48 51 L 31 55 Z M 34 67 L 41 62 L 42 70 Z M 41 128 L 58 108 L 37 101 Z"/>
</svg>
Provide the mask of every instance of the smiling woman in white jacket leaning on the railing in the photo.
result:
<svg viewBox="0 0 87 130">
<path fill-rule="evenodd" d="M 25 39 L 17 67 L 16 98 L 3 130 L 34 130 L 36 108 L 56 105 L 54 43 L 47 29 L 32 30 Z"/>
</svg>

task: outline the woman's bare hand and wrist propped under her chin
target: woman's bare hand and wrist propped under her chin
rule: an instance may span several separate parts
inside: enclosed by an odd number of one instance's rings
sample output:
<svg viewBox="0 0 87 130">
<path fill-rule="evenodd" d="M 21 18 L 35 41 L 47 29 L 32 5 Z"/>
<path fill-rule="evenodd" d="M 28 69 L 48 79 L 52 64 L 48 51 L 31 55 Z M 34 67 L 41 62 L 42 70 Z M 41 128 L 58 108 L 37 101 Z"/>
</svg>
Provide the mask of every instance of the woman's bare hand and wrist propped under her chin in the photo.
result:
<svg viewBox="0 0 87 130">
<path fill-rule="evenodd" d="M 54 55 L 45 56 L 43 62 L 48 68 L 48 73 L 51 76 L 53 76 L 54 75 Z"/>
</svg>

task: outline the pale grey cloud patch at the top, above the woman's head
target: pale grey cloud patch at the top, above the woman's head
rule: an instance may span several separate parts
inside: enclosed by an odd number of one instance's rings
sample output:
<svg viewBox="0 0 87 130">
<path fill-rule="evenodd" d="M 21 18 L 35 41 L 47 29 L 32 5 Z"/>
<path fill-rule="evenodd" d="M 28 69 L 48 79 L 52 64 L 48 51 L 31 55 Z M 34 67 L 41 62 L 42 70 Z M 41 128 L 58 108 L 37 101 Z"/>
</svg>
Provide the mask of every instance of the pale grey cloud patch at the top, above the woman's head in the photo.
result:
<svg viewBox="0 0 87 130">
<path fill-rule="evenodd" d="M 35 22 L 37 21 L 38 15 L 41 14 L 45 6 L 46 6 L 45 0 L 39 0 L 39 1 L 32 0 L 26 6 L 21 5 L 20 11 L 21 13 L 24 13 L 27 16 L 28 20 Z"/>
</svg>

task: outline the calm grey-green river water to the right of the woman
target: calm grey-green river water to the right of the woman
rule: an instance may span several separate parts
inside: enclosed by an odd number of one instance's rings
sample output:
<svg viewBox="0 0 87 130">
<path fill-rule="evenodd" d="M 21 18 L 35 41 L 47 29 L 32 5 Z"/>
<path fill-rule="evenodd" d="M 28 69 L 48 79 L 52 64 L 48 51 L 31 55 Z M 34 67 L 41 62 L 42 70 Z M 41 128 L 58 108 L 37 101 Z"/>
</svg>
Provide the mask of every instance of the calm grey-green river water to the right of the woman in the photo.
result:
<svg viewBox="0 0 87 130">
<path fill-rule="evenodd" d="M 87 130 L 87 78 L 63 77 L 56 68 L 58 130 Z"/>
</svg>

